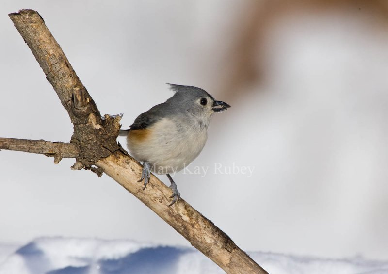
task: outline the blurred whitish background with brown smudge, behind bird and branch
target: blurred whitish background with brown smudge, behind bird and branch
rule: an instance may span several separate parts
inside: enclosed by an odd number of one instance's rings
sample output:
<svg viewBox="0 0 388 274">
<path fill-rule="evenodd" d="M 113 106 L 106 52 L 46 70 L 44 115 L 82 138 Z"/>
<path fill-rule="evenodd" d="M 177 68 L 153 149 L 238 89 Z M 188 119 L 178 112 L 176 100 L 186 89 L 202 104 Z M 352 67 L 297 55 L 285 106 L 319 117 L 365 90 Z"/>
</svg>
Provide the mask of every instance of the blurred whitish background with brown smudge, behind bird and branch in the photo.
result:
<svg viewBox="0 0 388 274">
<path fill-rule="evenodd" d="M 344 267 L 326 273 L 365 273 L 374 268 L 353 263 L 375 260 L 387 268 L 386 1 L 3 0 L 0 114 L 13 123 L 1 123 L 0 136 L 66 142 L 69 118 L 7 16 L 21 8 L 43 16 L 101 113 L 124 113 L 123 127 L 170 97 L 168 82 L 199 86 L 232 106 L 213 118 L 193 163 L 209 171 L 175 181 L 242 249 L 262 252 L 252 256 L 268 271 L 284 273 L 282 258 Z M 179 261 L 194 254 L 109 177 L 52 161 L 0 152 L 0 252 L 12 254 L 2 269 L 13 262 L 30 269 L 16 261 L 40 261 L 35 252 L 51 258 L 46 242 L 128 244 L 117 260 L 135 252 L 132 241 L 170 246 Z M 220 174 L 215 163 L 254 172 Z M 56 236 L 66 238 L 39 238 Z M 92 261 L 114 252 L 85 248 L 79 266 L 93 269 Z M 63 263 L 47 265 L 71 265 L 70 253 L 60 256 Z"/>
</svg>

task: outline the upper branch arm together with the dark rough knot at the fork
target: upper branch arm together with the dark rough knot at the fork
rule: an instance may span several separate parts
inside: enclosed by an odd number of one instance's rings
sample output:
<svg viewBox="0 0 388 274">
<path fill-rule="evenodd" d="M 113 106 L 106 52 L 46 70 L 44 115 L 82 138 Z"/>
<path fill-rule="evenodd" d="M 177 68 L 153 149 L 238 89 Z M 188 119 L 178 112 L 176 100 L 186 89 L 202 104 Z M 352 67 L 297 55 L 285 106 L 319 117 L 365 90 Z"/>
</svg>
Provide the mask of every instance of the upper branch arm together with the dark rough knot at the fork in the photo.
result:
<svg viewBox="0 0 388 274">
<path fill-rule="evenodd" d="M 69 114 L 74 126 L 70 142 L 80 148 L 79 166 L 91 169 L 96 161 L 119 149 L 116 138 L 121 117 L 101 117 L 96 103 L 37 12 L 21 10 L 9 16 Z"/>
</svg>

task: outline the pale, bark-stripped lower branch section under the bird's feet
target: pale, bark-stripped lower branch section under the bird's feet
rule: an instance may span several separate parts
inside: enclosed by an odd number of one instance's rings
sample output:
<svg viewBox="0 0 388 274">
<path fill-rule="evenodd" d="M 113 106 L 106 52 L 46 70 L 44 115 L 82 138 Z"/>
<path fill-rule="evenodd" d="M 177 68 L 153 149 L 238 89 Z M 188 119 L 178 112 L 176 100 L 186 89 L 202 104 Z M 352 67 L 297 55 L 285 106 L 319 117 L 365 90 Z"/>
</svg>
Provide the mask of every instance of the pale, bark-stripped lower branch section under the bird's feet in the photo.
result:
<svg viewBox="0 0 388 274">
<path fill-rule="evenodd" d="M 267 273 L 229 236 L 183 199 L 180 199 L 174 206 L 167 207 L 171 202 L 169 197 L 171 190 L 154 175 L 151 176 L 150 182 L 143 191 L 143 185 L 137 182 L 141 169 L 138 164 L 134 164 L 130 156 L 117 151 L 101 159 L 96 165 L 227 273 Z"/>
</svg>

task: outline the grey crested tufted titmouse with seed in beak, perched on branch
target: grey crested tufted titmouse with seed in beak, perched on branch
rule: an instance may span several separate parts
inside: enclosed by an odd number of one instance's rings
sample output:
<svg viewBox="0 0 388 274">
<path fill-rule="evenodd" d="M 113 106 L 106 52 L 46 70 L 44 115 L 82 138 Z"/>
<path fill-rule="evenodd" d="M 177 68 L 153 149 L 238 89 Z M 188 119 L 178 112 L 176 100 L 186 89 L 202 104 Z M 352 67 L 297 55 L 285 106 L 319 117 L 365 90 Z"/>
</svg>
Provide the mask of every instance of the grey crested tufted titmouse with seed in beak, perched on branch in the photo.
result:
<svg viewBox="0 0 388 274">
<path fill-rule="evenodd" d="M 169 173 L 182 170 L 199 155 L 208 138 L 210 117 L 230 106 L 216 101 L 205 90 L 193 86 L 169 84 L 174 96 L 140 114 L 127 130 L 129 152 L 143 162 L 144 189 L 151 170 L 166 174 L 173 194 L 171 205 L 180 197 L 177 185 Z M 218 107 L 219 106 L 219 107 Z"/>
</svg>

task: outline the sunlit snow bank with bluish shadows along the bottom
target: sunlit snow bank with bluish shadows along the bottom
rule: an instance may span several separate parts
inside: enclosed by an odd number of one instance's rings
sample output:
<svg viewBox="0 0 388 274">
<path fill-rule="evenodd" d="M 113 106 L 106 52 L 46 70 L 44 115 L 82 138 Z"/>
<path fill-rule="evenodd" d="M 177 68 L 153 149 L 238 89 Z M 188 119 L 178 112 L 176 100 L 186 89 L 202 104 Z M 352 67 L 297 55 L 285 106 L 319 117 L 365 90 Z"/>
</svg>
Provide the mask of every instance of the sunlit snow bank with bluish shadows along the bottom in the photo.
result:
<svg viewBox="0 0 388 274">
<path fill-rule="evenodd" d="M 0 244 L 0 274 L 224 273 L 194 248 L 131 240 L 39 238 L 20 248 Z M 330 259 L 251 252 L 271 274 L 383 274 L 388 261 Z"/>
</svg>

